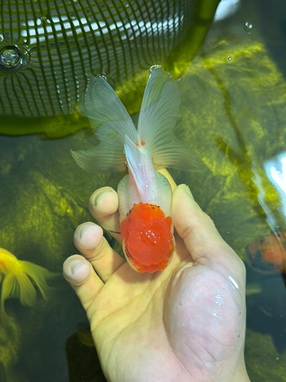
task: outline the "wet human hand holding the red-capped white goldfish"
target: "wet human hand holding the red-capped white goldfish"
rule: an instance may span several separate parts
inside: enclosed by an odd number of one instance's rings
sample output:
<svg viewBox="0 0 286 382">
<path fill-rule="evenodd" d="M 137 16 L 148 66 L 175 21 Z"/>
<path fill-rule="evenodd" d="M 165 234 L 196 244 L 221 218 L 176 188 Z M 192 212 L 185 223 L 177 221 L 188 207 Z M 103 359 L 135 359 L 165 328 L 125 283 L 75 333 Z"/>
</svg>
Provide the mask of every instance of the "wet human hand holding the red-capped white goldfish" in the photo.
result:
<svg viewBox="0 0 286 382">
<path fill-rule="evenodd" d="M 90 199 L 91 214 L 120 242 L 118 196 Z M 173 192 L 176 248 L 168 266 L 137 273 L 100 226 L 81 224 L 80 255 L 63 274 L 87 312 L 109 381 L 249 381 L 243 357 L 245 268 L 184 184 Z"/>
</svg>

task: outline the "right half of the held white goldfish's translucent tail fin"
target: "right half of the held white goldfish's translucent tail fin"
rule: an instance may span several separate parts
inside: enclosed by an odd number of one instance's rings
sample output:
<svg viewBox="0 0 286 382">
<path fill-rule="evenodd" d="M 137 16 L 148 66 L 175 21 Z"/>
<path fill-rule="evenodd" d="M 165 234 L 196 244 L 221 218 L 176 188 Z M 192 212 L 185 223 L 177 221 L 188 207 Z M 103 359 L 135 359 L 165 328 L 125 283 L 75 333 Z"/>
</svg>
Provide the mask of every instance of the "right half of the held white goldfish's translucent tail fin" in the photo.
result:
<svg viewBox="0 0 286 382">
<path fill-rule="evenodd" d="M 155 169 L 173 167 L 186 170 L 190 167 L 190 170 L 198 171 L 201 161 L 173 133 L 179 104 L 177 82 L 159 67 L 153 69 L 142 100 L 138 134 L 151 149 Z"/>
</svg>

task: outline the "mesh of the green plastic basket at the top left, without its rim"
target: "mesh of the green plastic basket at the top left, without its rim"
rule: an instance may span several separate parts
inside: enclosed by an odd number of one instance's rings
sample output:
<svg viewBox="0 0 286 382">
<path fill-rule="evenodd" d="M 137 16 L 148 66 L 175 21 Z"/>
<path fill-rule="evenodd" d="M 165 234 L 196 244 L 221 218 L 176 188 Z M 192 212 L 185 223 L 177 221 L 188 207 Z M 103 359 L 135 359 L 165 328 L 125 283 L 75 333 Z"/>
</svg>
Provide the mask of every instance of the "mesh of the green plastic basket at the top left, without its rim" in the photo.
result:
<svg viewBox="0 0 286 382">
<path fill-rule="evenodd" d="M 1 1 L 0 115 L 70 114 L 88 78 L 115 85 L 184 39 L 194 1 Z"/>
</svg>

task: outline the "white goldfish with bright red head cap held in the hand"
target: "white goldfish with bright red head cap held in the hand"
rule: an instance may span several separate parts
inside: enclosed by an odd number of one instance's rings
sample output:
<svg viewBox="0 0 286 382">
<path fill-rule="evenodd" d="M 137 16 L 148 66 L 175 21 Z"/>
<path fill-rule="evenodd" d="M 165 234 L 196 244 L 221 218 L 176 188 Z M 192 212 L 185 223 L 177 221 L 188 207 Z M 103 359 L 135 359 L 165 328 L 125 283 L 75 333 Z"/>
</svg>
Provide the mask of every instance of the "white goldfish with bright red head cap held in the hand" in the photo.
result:
<svg viewBox="0 0 286 382">
<path fill-rule="evenodd" d="M 103 77 L 91 81 L 81 107 L 100 143 L 87 151 L 72 151 L 72 156 L 89 171 L 128 170 L 118 184 L 120 231 L 126 260 L 137 272 L 164 269 L 175 247 L 172 191 L 156 170 L 195 165 L 190 149 L 173 134 L 179 103 L 177 82 L 155 67 L 144 91 L 137 129 Z"/>
</svg>

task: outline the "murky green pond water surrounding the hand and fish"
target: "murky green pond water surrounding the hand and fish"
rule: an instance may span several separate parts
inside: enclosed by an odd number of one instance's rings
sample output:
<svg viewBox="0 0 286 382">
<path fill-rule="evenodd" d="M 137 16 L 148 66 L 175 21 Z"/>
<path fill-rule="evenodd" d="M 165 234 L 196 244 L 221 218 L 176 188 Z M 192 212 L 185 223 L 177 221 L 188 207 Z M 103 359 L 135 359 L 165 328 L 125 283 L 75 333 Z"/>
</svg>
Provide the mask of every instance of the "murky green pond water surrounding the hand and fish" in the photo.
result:
<svg viewBox="0 0 286 382">
<path fill-rule="evenodd" d="M 285 45 L 285 1 L 244 1 L 212 24 L 179 81 L 177 135 L 206 169 L 171 173 L 190 186 L 245 261 L 245 359 L 252 381 L 286 380 L 285 275 L 265 270 L 245 250 L 257 237 L 286 231 Z M 85 118 L 76 118 L 87 127 Z M 58 120 L 60 128 L 71 123 L 70 117 Z M 89 129 L 44 138 L 0 136 L 0 247 L 58 273 L 47 301 L 40 293 L 32 308 L 6 301 L 0 381 L 104 381 L 85 312 L 61 268 L 76 253 L 76 226 L 91 220 L 89 195 L 104 185 L 116 189 L 122 174 L 91 175 L 75 165 L 69 151 L 89 145 Z"/>
</svg>

